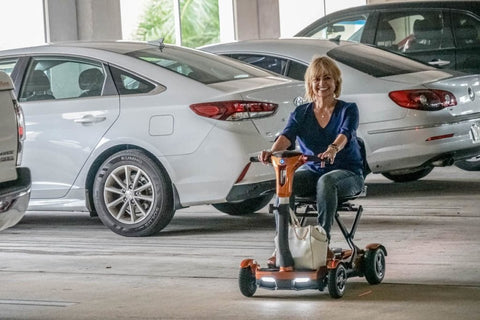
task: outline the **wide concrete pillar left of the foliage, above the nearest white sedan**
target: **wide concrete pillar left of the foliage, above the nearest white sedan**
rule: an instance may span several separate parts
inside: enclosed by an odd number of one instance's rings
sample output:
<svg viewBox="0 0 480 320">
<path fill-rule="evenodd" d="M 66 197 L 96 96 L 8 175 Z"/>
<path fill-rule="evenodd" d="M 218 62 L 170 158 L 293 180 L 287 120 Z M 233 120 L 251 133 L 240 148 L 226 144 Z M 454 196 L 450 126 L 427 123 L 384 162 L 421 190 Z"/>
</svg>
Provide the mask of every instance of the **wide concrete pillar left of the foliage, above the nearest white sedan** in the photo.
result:
<svg viewBox="0 0 480 320">
<path fill-rule="evenodd" d="M 120 0 L 44 0 L 45 39 L 122 39 Z"/>
</svg>

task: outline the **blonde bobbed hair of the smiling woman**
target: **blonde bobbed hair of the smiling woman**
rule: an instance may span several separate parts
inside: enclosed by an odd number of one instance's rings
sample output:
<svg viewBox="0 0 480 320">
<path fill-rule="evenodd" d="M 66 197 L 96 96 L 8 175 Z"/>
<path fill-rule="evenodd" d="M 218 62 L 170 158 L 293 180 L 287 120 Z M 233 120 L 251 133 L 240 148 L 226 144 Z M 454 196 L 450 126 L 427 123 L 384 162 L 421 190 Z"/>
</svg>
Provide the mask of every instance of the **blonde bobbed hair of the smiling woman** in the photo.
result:
<svg viewBox="0 0 480 320">
<path fill-rule="evenodd" d="M 329 74 L 335 81 L 335 98 L 340 96 L 342 92 L 342 73 L 335 61 L 327 56 L 313 57 L 312 62 L 305 71 L 305 98 L 312 102 L 315 96 L 312 81 L 321 77 L 324 74 Z"/>
</svg>

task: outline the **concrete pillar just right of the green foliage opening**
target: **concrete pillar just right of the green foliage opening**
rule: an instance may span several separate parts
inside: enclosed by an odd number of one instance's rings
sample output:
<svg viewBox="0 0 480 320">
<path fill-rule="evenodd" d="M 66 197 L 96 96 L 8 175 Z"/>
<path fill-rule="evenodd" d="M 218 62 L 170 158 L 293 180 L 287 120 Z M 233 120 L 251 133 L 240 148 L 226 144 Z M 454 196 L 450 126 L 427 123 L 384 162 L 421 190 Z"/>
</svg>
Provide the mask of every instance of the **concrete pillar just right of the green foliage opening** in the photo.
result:
<svg viewBox="0 0 480 320">
<path fill-rule="evenodd" d="M 278 0 L 234 0 L 234 18 L 237 40 L 280 36 Z"/>
</svg>

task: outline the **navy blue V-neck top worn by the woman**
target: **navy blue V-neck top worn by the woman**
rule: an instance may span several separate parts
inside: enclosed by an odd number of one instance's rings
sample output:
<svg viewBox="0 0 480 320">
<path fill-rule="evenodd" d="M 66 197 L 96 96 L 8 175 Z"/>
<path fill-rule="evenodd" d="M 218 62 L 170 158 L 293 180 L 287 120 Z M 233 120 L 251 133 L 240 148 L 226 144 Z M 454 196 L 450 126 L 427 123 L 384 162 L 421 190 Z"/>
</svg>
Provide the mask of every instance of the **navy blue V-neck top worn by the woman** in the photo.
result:
<svg viewBox="0 0 480 320">
<path fill-rule="evenodd" d="M 287 126 L 281 134 L 290 140 L 292 145 L 297 141 L 305 155 L 318 155 L 325 152 L 328 145 L 342 133 L 348 141 L 337 153 L 333 165 L 326 164 L 321 168 L 319 162 L 308 162 L 306 166 L 320 174 L 335 169 L 362 174 L 362 155 L 357 141 L 358 118 L 358 107 L 355 103 L 338 100 L 330 121 L 325 128 L 322 128 L 315 118 L 313 103 L 307 103 L 298 106 L 290 114 Z"/>
</svg>

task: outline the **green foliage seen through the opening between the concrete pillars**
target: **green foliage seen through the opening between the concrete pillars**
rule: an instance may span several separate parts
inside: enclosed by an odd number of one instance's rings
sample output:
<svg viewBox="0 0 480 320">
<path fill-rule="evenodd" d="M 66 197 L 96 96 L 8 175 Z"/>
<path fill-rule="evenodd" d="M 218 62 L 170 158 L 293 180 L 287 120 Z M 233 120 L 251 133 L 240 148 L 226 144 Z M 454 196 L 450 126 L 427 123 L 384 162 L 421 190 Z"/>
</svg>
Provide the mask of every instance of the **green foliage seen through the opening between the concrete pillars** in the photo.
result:
<svg viewBox="0 0 480 320">
<path fill-rule="evenodd" d="M 175 43 L 173 1 L 151 0 L 137 29 L 138 40 Z M 182 45 L 195 48 L 219 40 L 218 0 L 180 0 Z"/>
</svg>

